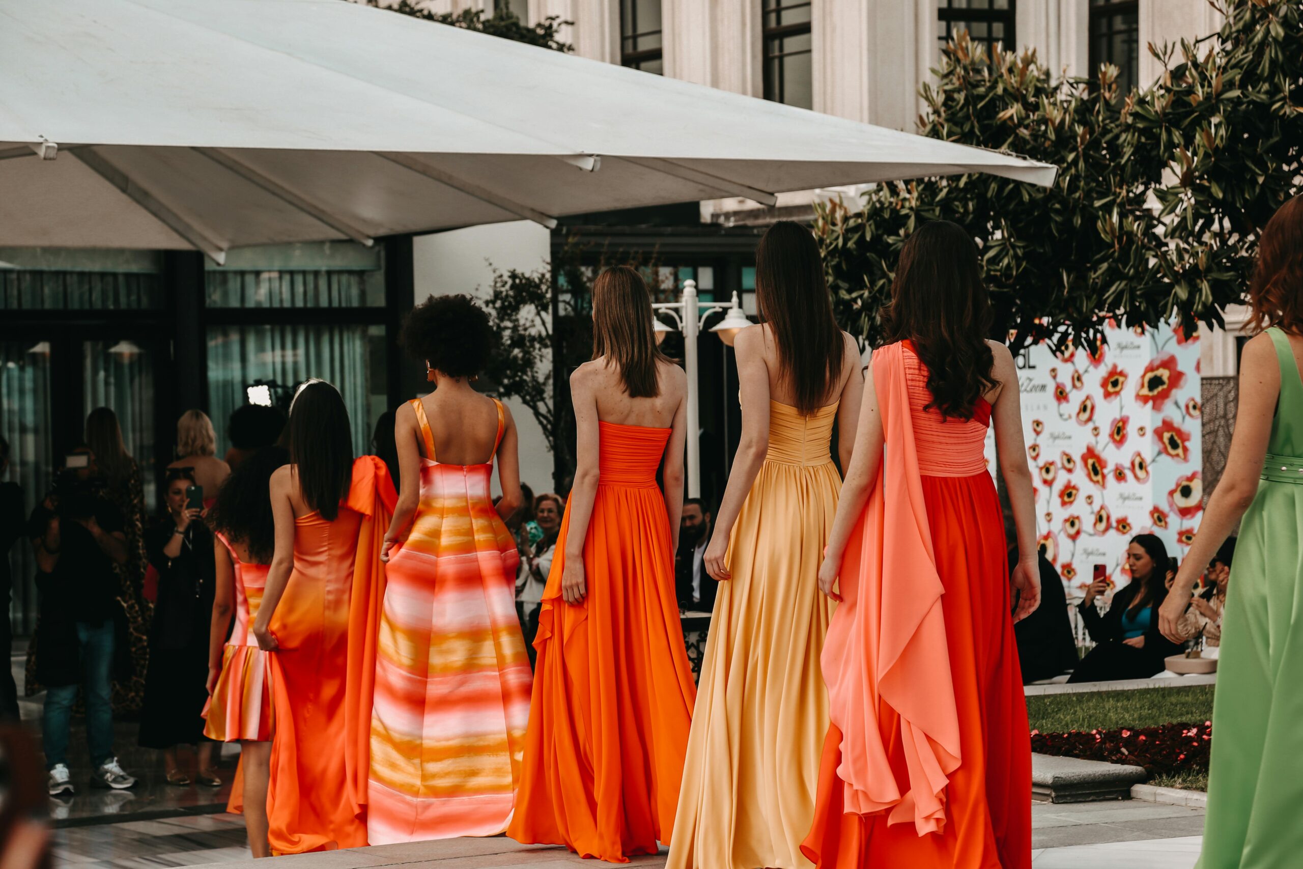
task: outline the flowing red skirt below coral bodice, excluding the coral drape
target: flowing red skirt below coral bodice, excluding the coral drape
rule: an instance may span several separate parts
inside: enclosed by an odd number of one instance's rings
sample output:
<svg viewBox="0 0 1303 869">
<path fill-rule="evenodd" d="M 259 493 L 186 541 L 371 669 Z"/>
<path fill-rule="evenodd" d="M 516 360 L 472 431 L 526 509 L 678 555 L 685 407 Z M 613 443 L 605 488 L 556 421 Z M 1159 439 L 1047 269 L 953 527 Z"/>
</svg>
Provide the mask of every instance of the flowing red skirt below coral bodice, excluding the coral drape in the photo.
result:
<svg viewBox="0 0 1303 869">
<path fill-rule="evenodd" d="M 1029 869 L 1031 736 L 999 499 L 986 473 L 921 481 L 960 726 L 962 762 L 945 791 L 946 822 L 939 834 L 920 836 L 913 823 L 887 825 L 882 813 L 843 814 L 842 734 L 829 727 L 814 826 L 803 849 L 821 868 Z M 899 717 L 883 705 L 881 720 L 891 732 Z M 899 739 L 891 744 L 893 773 L 906 782 L 906 752 Z"/>
</svg>

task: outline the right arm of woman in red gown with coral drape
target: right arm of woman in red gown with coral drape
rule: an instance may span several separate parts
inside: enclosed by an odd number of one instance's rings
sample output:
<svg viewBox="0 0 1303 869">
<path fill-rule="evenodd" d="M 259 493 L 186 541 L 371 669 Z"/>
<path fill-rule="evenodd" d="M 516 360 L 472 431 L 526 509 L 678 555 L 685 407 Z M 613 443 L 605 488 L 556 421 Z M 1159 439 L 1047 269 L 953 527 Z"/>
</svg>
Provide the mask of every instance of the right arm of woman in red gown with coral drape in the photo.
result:
<svg viewBox="0 0 1303 869">
<path fill-rule="evenodd" d="M 1036 498 L 1032 492 L 1032 470 L 1027 466 L 1027 446 L 1023 443 L 1022 396 L 1018 390 L 1018 369 L 1014 357 L 1003 344 L 990 343 L 994 365 L 992 375 L 999 383 L 999 393 L 992 406 L 992 426 L 995 430 L 995 455 L 1001 476 L 1009 491 L 1009 504 L 1018 530 L 1018 565 L 1010 576 L 1018 591 L 1014 621 L 1022 621 L 1041 603 L 1041 568 L 1037 560 Z"/>
</svg>

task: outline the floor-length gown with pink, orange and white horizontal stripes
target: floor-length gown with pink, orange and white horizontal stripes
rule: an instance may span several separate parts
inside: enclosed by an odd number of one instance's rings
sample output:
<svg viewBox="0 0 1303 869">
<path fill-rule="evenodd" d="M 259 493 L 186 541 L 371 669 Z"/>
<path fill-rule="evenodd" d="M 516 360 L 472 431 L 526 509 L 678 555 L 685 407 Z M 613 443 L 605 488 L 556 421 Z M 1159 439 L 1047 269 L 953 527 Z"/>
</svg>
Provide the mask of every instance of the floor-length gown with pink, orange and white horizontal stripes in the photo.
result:
<svg viewBox="0 0 1303 869">
<path fill-rule="evenodd" d="M 412 530 L 388 563 L 371 713 L 370 844 L 495 835 L 511 818 L 529 723 L 511 532 L 493 506 L 493 456 L 425 459 Z M 503 410 L 498 403 L 498 436 Z"/>
</svg>

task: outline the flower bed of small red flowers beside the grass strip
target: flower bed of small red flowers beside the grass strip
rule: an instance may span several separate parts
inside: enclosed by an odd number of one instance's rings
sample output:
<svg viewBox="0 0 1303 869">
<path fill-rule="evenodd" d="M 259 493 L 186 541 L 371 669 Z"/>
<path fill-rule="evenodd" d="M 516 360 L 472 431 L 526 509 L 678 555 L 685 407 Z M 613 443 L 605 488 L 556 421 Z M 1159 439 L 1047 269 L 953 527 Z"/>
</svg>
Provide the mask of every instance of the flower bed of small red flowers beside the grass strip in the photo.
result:
<svg viewBox="0 0 1303 869">
<path fill-rule="evenodd" d="M 1084 761 L 1143 766 L 1152 776 L 1186 770 L 1207 770 L 1213 724 L 1158 724 L 1118 730 L 1042 734 L 1032 731 L 1038 754 L 1079 757 Z"/>
</svg>

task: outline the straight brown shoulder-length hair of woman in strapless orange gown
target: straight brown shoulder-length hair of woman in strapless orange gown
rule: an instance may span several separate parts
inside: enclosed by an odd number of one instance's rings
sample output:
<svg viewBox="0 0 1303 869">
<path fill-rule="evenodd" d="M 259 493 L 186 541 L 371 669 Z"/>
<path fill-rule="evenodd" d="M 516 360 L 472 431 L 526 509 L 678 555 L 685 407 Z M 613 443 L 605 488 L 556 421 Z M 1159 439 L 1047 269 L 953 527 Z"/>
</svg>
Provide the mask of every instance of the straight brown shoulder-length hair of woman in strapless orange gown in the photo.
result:
<svg viewBox="0 0 1303 869">
<path fill-rule="evenodd" d="M 628 266 L 607 268 L 593 281 L 593 358 L 603 356 L 631 399 L 661 395 L 657 362 L 668 360 L 652 331 L 652 293 Z"/>
</svg>

